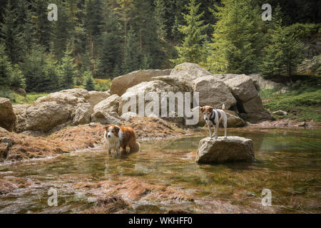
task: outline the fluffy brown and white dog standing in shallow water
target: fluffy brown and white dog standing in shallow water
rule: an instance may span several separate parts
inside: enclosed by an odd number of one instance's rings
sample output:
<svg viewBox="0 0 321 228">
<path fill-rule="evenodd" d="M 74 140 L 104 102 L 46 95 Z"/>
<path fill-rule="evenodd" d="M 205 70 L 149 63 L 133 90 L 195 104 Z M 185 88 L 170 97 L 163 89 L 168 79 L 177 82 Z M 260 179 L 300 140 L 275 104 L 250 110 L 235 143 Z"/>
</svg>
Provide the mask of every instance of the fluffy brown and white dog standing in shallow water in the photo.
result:
<svg viewBox="0 0 321 228">
<path fill-rule="evenodd" d="M 136 134 L 132 128 L 118 125 L 106 126 L 103 139 L 108 147 L 108 153 L 114 152 L 139 152 L 141 144 L 136 141 Z M 127 150 L 129 147 L 129 150 Z"/>
</svg>

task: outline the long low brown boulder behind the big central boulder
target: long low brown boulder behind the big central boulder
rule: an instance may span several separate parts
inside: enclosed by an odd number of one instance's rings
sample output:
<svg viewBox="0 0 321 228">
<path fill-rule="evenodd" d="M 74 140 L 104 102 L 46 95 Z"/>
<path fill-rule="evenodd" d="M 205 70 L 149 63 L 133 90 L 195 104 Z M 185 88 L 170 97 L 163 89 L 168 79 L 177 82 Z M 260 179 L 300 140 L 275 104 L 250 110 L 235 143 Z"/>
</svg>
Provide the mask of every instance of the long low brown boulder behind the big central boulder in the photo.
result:
<svg viewBox="0 0 321 228">
<path fill-rule="evenodd" d="M 119 76 L 111 81 L 111 94 L 123 95 L 128 88 L 138 85 L 144 81 L 153 81 L 153 77 L 167 76 L 170 70 L 145 70 L 133 71 L 124 76 Z"/>
</svg>

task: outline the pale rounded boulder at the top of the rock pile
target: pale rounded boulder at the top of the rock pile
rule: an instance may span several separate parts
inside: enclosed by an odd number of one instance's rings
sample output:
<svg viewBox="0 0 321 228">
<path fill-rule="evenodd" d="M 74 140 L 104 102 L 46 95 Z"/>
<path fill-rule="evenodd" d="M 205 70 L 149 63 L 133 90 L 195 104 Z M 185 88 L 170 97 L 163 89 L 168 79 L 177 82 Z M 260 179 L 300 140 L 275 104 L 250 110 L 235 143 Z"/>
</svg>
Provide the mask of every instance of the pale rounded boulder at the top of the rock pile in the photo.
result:
<svg viewBox="0 0 321 228">
<path fill-rule="evenodd" d="M 170 72 L 171 78 L 176 78 L 179 81 L 184 81 L 190 84 L 196 78 L 201 78 L 203 76 L 212 76 L 212 74 L 195 63 L 181 63 L 175 66 L 175 68 Z"/>
</svg>

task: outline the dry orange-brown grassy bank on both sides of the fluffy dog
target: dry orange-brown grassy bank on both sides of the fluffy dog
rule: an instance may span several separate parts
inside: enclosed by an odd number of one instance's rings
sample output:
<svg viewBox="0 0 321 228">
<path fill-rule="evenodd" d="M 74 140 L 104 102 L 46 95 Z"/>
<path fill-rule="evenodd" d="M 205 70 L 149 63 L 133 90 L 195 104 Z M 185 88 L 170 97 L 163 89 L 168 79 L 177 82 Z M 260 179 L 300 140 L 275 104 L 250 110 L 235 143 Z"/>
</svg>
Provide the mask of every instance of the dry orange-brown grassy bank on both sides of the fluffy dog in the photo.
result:
<svg viewBox="0 0 321 228">
<path fill-rule="evenodd" d="M 175 138 L 189 132 L 160 118 L 130 118 L 124 125 L 136 131 L 138 140 Z M 0 132 L 0 162 L 44 158 L 103 145 L 105 125 L 67 126 L 55 133 Z"/>
</svg>

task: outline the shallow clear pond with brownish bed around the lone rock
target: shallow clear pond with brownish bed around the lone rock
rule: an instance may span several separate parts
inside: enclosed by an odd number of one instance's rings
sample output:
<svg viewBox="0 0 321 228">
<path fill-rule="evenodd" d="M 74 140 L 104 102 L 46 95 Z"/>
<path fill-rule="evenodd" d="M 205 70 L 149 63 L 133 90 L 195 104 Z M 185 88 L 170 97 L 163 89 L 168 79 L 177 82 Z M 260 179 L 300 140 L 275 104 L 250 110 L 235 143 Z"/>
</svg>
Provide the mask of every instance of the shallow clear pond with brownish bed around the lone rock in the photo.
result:
<svg viewBox="0 0 321 228">
<path fill-rule="evenodd" d="M 142 151 L 108 155 L 93 148 L 0 165 L 0 178 L 23 180 L 0 195 L 0 213 L 99 212 L 99 199 L 121 197 L 125 213 L 320 213 L 321 129 L 240 129 L 255 162 L 198 165 L 205 132 L 142 142 Z M 138 189 L 143 192 L 139 192 Z M 51 191 L 49 191 L 51 190 Z M 270 190 L 272 206 L 262 205 Z M 49 205 L 57 192 L 57 206 Z M 106 211 L 105 211 L 106 212 Z"/>
</svg>

